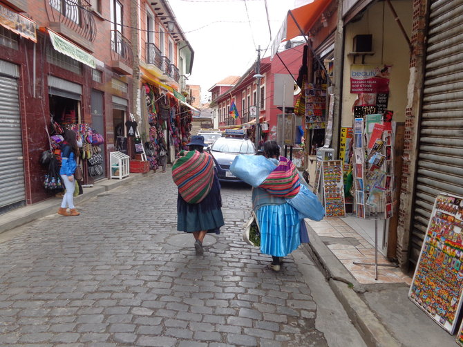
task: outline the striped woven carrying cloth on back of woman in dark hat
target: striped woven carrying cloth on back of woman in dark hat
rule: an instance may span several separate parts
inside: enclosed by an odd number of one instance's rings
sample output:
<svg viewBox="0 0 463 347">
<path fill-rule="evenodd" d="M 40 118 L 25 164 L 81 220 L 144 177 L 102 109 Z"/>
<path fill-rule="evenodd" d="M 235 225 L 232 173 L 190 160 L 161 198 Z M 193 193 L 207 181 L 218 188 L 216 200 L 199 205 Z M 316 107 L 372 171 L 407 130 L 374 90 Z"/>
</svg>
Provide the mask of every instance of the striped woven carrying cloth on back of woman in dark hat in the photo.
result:
<svg viewBox="0 0 463 347">
<path fill-rule="evenodd" d="M 172 165 L 173 182 L 183 200 L 200 203 L 211 191 L 214 180 L 214 163 L 209 153 L 185 151 Z"/>
</svg>

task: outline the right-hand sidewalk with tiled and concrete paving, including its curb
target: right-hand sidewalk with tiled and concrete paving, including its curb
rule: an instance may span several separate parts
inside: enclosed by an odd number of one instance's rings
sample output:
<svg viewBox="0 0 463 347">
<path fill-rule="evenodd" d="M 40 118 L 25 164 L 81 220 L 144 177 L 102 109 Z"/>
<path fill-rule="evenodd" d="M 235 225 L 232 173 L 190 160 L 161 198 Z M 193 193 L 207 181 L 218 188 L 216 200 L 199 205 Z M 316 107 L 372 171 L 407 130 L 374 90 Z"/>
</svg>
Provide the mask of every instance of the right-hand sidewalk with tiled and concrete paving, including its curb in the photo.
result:
<svg viewBox="0 0 463 347">
<path fill-rule="evenodd" d="M 413 274 L 399 268 L 378 267 L 375 248 L 343 218 L 306 220 L 310 244 L 305 246 L 337 299 L 359 328 L 368 346 L 457 346 L 449 335 L 408 299 Z M 378 263 L 390 263 L 378 252 Z"/>
</svg>

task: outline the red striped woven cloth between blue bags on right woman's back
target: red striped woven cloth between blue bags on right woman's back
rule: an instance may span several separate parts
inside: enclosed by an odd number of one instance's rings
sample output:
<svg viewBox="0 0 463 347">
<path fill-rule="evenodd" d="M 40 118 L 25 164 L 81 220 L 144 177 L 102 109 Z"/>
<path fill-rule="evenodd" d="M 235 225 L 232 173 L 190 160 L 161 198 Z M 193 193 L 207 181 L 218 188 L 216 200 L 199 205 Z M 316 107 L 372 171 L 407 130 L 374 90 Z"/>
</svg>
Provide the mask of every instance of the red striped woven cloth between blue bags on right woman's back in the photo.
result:
<svg viewBox="0 0 463 347">
<path fill-rule="evenodd" d="M 294 198 L 299 193 L 301 182 L 296 166 L 285 157 L 280 157 L 278 166 L 259 187 L 281 198 Z"/>
</svg>

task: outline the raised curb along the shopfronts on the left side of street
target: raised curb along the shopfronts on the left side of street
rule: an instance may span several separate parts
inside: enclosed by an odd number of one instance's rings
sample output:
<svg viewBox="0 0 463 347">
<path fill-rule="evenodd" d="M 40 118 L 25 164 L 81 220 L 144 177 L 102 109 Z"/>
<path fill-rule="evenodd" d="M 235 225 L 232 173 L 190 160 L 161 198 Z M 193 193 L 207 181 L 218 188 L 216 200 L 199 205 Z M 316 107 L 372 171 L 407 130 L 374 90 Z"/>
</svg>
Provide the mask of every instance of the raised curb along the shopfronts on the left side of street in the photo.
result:
<svg viewBox="0 0 463 347">
<path fill-rule="evenodd" d="M 152 176 L 153 174 L 154 172 L 150 170 L 147 173 L 131 173 L 131 176 L 123 178 L 122 180 L 102 180 L 101 182 L 97 182 L 91 188 L 84 188 L 84 194 L 76 196 L 74 201 L 75 203 L 84 203 L 91 198 L 95 198 L 98 194 L 101 194 L 104 191 L 115 189 L 122 185 L 126 185 L 129 182 L 139 180 L 140 178 Z M 39 218 L 55 214 L 58 207 L 61 205 L 61 200 L 61 198 L 49 198 L 48 200 L 19 207 L 11 212 L 0 215 L 0 234 L 8 232 L 15 227 L 20 227 L 21 225 L 36 221 Z"/>
</svg>

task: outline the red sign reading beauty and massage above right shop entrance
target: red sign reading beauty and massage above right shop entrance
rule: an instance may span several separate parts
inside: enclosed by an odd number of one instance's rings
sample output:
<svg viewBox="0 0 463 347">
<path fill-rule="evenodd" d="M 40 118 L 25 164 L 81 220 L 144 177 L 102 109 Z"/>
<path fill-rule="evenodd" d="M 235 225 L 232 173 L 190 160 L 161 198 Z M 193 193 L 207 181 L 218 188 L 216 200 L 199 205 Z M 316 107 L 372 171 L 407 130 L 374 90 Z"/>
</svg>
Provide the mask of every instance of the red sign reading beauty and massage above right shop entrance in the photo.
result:
<svg viewBox="0 0 463 347">
<path fill-rule="evenodd" d="M 351 65 L 350 93 L 389 93 L 389 65 Z"/>
</svg>

